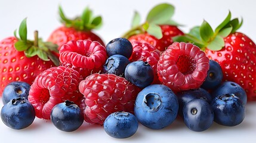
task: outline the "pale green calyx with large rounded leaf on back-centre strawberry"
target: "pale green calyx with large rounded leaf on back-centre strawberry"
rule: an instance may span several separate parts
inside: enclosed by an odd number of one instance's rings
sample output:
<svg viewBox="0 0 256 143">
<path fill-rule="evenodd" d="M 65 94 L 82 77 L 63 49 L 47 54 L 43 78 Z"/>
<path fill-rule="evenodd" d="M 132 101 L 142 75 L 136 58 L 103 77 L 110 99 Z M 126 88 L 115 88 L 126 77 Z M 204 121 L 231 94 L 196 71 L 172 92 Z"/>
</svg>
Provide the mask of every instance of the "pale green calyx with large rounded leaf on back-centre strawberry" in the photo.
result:
<svg viewBox="0 0 256 143">
<path fill-rule="evenodd" d="M 149 33 L 149 35 L 155 36 L 157 39 L 162 38 L 162 29 L 159 25 L 172 25 L 178 26 L 179 24 L 172 20 L 172 15 L 174 15 L 174 6 L 171 4 L 159 4 L 149 11 L 146 17 L 146 21 L 142 24 L 140 14 L 137 11 L 134 12 L 134 17 L 132 18 L 131 29 L 128 30 L 123 38 L 129 38 L 133 35 L 138 35 L 140 33 Z"/>
</svg>

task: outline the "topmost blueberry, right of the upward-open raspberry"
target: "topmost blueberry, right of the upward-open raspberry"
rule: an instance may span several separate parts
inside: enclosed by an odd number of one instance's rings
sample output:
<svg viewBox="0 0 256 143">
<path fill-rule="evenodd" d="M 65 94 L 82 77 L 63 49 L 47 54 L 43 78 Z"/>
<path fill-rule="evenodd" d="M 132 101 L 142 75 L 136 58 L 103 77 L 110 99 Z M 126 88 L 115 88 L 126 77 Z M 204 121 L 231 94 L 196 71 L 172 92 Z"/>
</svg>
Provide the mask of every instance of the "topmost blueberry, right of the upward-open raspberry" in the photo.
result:
<svg viewBox="0 0 256 143">
<path fill-rule="evenodd" d="M 128 39 L 116 38 L 107 43 L 106 50 L 109 57 L 119 54 L 129 58 L 132 54 L 132 45 L 131 42 L 128 41 Z"/>
</svg>

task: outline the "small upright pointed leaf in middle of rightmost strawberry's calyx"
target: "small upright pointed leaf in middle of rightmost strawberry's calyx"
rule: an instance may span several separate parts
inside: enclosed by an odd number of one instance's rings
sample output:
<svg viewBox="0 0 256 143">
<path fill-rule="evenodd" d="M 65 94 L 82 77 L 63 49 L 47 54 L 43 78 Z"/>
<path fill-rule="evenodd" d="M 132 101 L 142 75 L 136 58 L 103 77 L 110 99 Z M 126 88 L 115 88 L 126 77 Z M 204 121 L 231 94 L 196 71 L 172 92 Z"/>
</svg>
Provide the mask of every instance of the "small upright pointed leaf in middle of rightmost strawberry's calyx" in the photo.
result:
<svg viewBox="0 0 256 143">
<path fill-rule="evenodd" d="M 205 20 L 203 20 L 203 23 L 199 29 L 200 35 L 203 41 L 209 42 L 209 40 L 214 36 L 214 32 L 212 30 L 212 27 L 209 25 L 209 23 Z"/>
</svg>

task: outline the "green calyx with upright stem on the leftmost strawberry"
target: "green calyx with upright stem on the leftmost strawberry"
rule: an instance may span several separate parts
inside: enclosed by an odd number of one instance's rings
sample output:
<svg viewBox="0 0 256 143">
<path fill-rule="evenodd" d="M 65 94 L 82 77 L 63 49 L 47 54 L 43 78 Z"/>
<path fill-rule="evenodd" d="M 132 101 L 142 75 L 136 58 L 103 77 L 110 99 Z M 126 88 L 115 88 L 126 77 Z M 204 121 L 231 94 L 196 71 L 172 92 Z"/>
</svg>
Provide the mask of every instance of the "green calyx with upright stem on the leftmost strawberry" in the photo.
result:
<svg viewBox="0 0 256 143">
<path fill-rule="evenodd" d="M 24 51 L 24 55 L 30 58 L 37 55 L 44 61 L 53 61 L 55 66 L 60 64 L 58 57 L 54 55 L 58 53 L 58 45 L 51 43 L 51 42 L 43 42 L 41 38 L 38 38 L 38 31 L 34 32 L 35 39 L 34 41 L 30 41 L 27 39 L 27 18 L 24 18 L 21 21 L 20 27 L 18 29 L 18 36 L 17 36 L 17 29 L 14 31 L 14 36 L 18 39 L 16 43 L 14 43 L 14 47 L 17 51 Z"/>
</svg>

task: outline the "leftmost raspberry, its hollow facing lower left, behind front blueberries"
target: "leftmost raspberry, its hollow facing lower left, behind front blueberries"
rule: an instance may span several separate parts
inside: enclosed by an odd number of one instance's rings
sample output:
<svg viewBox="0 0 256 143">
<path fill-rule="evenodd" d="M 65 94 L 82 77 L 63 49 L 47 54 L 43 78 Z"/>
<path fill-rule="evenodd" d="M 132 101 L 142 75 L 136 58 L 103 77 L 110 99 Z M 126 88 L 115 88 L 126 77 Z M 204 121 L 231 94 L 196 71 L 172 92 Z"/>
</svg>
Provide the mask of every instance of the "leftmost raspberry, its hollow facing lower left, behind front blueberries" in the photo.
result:
<svg viewBox="0 0 256 143">
<path fill-rule="evenodd" d="M 36 76 L 28 96 L 35 108 L 36 117 L 50 119 L 54 105 L 65 100 L 79 105 L 83 97 L 78 91 L 81 80 L 78 71 L 63 66 L 51 67 Z"/>
</svg>

